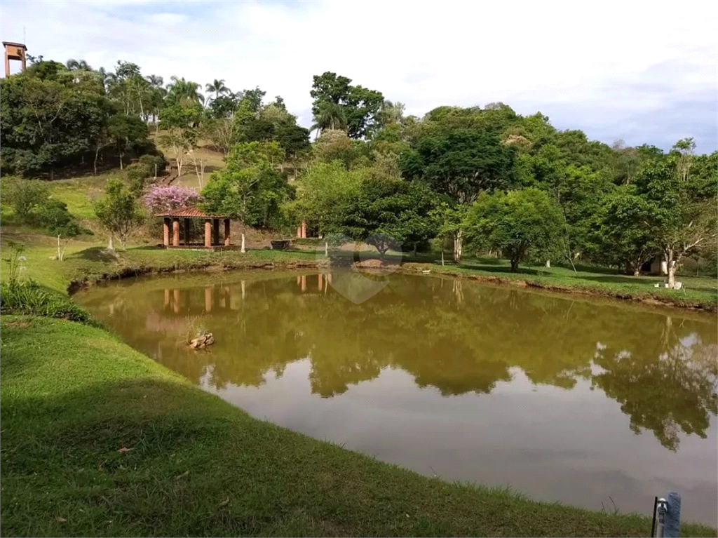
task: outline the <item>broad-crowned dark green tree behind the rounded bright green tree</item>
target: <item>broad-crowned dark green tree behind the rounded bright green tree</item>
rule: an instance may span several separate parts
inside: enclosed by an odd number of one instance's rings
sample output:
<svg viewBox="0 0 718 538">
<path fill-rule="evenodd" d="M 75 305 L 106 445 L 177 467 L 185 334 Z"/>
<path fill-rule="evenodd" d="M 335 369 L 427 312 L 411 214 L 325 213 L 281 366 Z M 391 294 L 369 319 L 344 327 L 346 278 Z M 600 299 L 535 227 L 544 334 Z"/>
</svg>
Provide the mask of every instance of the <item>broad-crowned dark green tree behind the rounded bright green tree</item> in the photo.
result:
<svg viewBox="0 0 718 538">
<path fill-rule="evenodd" d="M 470 129 L 426 129 L 404 152 L 405 177 L 427 182 L 455 205 L 469 205 L 485 190 L 508 187 L 513 179 L 514 150 L 498 136 Z M 462 256 L 463 230 L 454 232 L 454 260 Z"/>
</svg>

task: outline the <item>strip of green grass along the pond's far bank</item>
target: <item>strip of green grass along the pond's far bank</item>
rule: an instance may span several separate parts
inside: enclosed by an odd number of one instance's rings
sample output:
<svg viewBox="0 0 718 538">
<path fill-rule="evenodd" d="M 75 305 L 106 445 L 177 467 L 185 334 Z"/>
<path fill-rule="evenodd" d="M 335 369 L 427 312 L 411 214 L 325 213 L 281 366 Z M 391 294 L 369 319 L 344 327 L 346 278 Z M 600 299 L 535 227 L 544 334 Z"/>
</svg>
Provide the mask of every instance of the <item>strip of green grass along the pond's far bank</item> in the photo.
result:
<svg viewBox="0 0 718 538">
<path fill-rule="evenodd" d="M 110 256 L 104 251 L 103 246 L 72 241 L 67 247 L 65 261 L 60 262 L 51 259 L 57 252 L 53 238 L 22 231 L 4 233 L 4 252 L 7 251 L 5 246 L 9 240 L 27 245 L 24 253 L 27 256 L 27 277 L 60 292 L 66 292 L 67 284 L 73 281 L 94 282 L 103 278 L 134 276 L 149 272 L 208 268 L 309 267 L 317 264 L 315 251 L 311 245 L 307 245 L 307 250 L 303 251 L 249 250 L 246 254 L 241 254 L 239 251 L 205 252 L 136 246 L 126 251 L 118 251 L 116 256 Z M 347 251 L 342 254 L 351 253 Z M 388 258 L 398 261 L 398 258 L 391 255 Z M 466 259 L 459 265 L 447 261 L 446 266 L 442 266 L 436 256 L 421 254 L 416 259 L 409 257 L 404 269 L 416 272 L 428 269 L 435 273 L 454 274 L 490 282 L 513 282 L 561 292 L 598 294 L 624 300 L 694 307 L 713 312 L 718 306 L 718 280 L 714 277 L 684 275 L 679 277 L 684 289 L 673 290 L 662 287 L 663 277 L 633 277 L 598 267 L 577 266 L 577 272 L 574 272 L 571 267 L 556 265 L 551 268 L 521 266 L 518 272 L 512 273 L 508 261 L 505 260 L 485 257 Z M 0 278 L 4 278 L 2 273 Z M 661 284 L 661 287 L 654 287 L 656 283 Z"/>
</svg>

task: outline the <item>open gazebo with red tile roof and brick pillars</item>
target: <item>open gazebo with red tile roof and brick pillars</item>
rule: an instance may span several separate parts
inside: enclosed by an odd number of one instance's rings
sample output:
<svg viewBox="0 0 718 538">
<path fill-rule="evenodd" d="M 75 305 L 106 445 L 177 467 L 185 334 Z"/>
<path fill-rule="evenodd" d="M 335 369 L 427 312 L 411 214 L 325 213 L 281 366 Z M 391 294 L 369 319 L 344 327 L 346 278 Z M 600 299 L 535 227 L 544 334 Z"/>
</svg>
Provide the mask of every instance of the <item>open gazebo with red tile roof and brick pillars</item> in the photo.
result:
<svg viewBox="0 0 718 538">
<path fill-rule="evenodd" d="M 230 246 L 229 225 L 230 218 L 224 215 L 207 215 L 196 207 L 170 209 L 164 213 L 154 215 L 164 219 L 164 237 L 163 244 L 166 249 L 215 249 L 226 248 Z M 182 233 L 180 242 L 180 220 L 185 221 L 185 231 Z M 204 243 L 192 243 L 192 227 L 190 221 L 192 219 L 202 219 L 205 221 L 205 241 Z M 224 221 L 224 241 L 220 243 L 220 221 Z M 172 242 L 169 239 L 169 228 L 172 226 Z"/>
</svg>

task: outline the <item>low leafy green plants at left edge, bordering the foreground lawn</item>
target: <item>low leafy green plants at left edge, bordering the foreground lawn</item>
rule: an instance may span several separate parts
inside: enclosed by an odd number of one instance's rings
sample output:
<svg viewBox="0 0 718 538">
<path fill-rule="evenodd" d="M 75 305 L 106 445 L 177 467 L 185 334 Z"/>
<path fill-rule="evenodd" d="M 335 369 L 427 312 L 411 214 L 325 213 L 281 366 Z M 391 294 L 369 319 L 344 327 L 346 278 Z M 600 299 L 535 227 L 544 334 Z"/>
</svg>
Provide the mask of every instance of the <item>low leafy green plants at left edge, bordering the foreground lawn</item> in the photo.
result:
<svg viewBox="0 0 718 538">
<path fill-rule="evenodd" d="M 0 314 L 59 317 L 93 327 L 101 327 L 87 310 L 57 292 L 36 282 L 1 282 Z"/>
</svg>

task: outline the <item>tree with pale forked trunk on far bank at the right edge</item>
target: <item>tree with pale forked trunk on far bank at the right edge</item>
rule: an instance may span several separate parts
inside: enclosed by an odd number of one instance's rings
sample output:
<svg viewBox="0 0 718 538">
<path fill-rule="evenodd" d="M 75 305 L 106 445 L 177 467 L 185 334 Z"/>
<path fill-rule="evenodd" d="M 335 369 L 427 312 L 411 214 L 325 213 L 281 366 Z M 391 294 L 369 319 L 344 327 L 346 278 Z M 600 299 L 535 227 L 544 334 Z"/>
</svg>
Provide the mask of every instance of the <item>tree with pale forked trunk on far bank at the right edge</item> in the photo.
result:
<svg viewBox="0 0 718 538">
<path fill-rule="evenodd" d="M 645 224 L 663 251 L 671 289 L 683 256 L 714 243 L 718 236 L 716 172 L 707 188 L 704 178 L 684 174 L 686 168 L 690 167 L 679 159 L 654 161 L 636 179 L 650 208 Z"/>
</svg>

